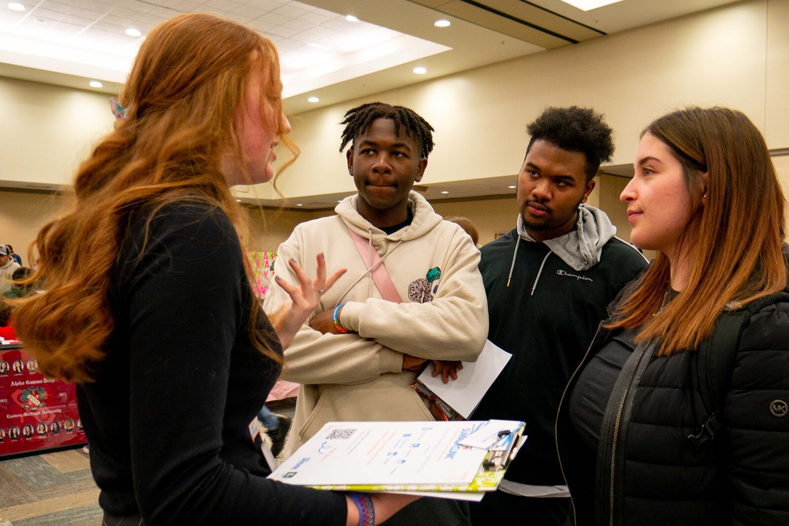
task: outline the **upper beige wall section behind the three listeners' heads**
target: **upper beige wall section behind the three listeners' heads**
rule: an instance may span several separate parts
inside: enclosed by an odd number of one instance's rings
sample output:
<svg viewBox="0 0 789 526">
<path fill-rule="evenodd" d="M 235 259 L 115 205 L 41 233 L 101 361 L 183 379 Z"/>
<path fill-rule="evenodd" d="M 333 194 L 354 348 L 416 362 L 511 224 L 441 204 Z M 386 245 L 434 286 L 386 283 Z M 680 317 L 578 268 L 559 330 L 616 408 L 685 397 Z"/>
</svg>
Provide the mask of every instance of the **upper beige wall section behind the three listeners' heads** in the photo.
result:
<svg viewBox="0 0 789 526">
<path fill-rule="evenodd" d="M 649 121 L 690 104 L 743 110 L 771 148 L 789 147 L 787 5 L 741 2 L 299 114 L 291 123 L 302 155 L 282 190 L 353 191 L 337 151 L 338 122 L 376 99 L 413 107 L 436 128 L 423 184 L 516 173 L 525 124 L 548 105 L 603 112 L 615 131 L 613 164 L 632 162 Z"/>
</svg>

